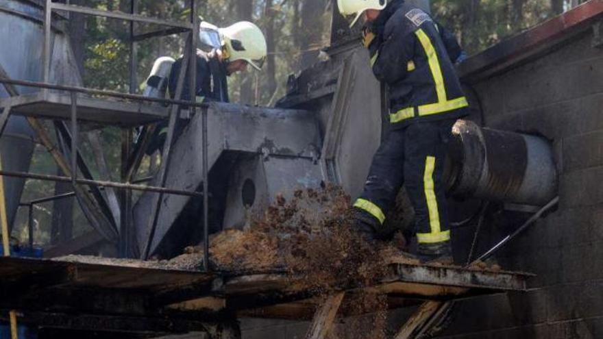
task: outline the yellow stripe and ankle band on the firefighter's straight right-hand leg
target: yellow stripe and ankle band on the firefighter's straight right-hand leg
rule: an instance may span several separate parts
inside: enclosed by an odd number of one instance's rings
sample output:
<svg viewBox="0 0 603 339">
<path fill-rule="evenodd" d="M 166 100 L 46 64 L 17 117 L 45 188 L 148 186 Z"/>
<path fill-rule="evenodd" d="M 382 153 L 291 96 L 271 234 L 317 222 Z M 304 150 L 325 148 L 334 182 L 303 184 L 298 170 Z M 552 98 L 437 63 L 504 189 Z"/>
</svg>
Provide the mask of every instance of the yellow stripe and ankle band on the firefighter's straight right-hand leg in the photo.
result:
<svg viewBox="0 0 603 339">
<path fill-rule="evenodd" d="M 418 233 L 419 242 L 442 242 L 450 239 L 450 231 L 441 231 L 440 214 L 438 212 L 438 202 L 434 191 L 433 171 L 436 164 L 436 158 L 428 156 L 425 160 L 425 172 L 423 173 L 423 189 L 427 200 L 427 209 L 429 212 L 430 233 Z"/>
</svg>

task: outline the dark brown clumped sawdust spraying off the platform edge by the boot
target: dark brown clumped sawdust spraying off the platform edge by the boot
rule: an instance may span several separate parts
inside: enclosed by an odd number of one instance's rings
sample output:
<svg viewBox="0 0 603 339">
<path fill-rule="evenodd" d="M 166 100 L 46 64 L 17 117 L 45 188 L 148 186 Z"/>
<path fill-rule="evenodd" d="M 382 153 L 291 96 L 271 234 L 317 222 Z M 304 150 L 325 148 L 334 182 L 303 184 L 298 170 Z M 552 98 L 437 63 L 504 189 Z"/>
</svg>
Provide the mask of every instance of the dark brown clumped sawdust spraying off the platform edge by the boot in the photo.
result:
<svg viewBox="0 0 603 339">
<path fill-rule="evenodd" d="M 289 201 L 277 197 L 253 225 L 278 234 L 289 273 L 314 292 L 329 292 L 340 284 L 368 285 L 386 268 L 379 249 L 350 227 L 349 197 L 335 186 L 297 190 Z"/>
</svg>

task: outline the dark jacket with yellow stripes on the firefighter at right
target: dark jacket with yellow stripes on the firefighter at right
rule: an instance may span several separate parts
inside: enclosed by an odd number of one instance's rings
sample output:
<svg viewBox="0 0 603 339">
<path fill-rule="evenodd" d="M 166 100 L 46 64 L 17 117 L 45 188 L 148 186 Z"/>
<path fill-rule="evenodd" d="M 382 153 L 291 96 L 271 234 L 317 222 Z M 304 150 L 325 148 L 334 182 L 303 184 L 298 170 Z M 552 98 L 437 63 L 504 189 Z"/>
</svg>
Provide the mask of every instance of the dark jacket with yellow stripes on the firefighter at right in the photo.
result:
<svg viewBox="0 0 603 339">
<path fill-rule="evenodd" d="M 467 99 L 454 69 L 461 55 L 452 34 L 414 5 L 394 0 L 370 27 L 371 67 L 389 88 L 394 128 L 466 115 Z"/>
</svg>

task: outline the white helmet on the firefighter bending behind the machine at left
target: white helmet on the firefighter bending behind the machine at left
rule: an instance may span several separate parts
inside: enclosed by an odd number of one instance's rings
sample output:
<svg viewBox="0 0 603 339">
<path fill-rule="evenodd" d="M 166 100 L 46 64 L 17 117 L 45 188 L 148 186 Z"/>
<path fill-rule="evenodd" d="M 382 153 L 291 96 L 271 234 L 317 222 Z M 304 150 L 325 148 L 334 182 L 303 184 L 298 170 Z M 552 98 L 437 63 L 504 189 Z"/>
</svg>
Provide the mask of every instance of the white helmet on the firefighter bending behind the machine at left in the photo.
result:
<svg viewBox="0 0 603 339">
<path fill-rule="evenodd" d="M 249 21 L 241 21 L 218 31 L 227 60 L 245 60 L 258 71 L 262 68 L 268 48 L 260 27 Z"/>
</svg>

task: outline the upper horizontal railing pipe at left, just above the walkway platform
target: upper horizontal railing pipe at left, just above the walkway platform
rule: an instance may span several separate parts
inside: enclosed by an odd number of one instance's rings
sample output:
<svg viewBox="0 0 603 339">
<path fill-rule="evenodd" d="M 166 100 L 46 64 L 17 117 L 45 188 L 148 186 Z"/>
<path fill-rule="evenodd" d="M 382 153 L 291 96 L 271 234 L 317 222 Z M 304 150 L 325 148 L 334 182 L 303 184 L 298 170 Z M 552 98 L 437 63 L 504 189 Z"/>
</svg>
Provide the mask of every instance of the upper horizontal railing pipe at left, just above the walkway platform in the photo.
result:
<svg viewBox="0 0 603 339">
<path fill-rule="evenodd" d="M 127 93 L 114 92 L 111 90 L 95 90 L 92 88 L 64 86 L 64 85 L 48 84 L 48 83 L 36 82 L 36 81 L 3 79 L 2 77 L 0 77 L 0 84 L 12 84 L 12 85 L 26 86 L 26 87 L 48 88 L 51 90 L 65 90 L 65 91 L 70 91 L 70 92 L 86 93 L 89 95 L 103 95 L 106 97 L 116 97 L 116 98 L 120 98 L 120 99 L 151 101 L 151 102 L 156 102 L 156 103 L 169 103 L 169 104 L 177 104 L 177 105 L 188 105 L 188 106 L 195 106 L 195 107 L 200 107 L 200 108 L 208 107 L 208 103 L 196 103 L 195 101 L 160 99 L 160 98 L 153 98 L 153 97 L 145 97 L 144 95 L 132 95 L 132 94 L 127 94 Z"/>
</svg>

